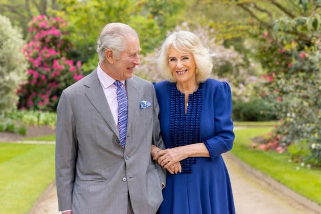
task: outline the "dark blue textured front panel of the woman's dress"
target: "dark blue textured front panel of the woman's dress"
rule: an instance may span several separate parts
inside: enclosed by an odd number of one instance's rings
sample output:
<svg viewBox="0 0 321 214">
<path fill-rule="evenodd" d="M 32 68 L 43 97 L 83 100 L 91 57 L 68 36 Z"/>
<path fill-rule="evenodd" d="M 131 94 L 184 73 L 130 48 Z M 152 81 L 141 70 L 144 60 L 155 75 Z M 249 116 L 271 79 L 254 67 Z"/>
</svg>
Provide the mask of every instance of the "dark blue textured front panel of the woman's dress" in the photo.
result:
<svg viewBox="0 0 321 214">
<path fill-rule="evenodd" d="M 200 142 L 200 120 L 202 111 L 202 83 L 193 94 L 189 94 L 185 114 L 185 95 L 172 84 L 170 100 L 170 139 L 171 147 L 185 146 Z M 191 173 L 195 157 L 183 159 L 180 164 L 182 173 Z"/>
</svg>

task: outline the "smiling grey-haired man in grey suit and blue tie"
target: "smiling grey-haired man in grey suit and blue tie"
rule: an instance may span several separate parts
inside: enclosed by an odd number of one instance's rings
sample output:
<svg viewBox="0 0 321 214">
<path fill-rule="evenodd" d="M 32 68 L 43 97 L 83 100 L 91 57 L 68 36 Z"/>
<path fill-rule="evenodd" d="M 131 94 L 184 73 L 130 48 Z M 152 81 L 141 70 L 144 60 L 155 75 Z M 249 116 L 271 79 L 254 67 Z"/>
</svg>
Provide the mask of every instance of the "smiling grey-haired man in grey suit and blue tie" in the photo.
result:
<svg viewBox="0 0 321 214">
<path fill-rule="evenodd" d="M 151 83 L 140 65 L 135 30 L 107 24 L 97 43 L 98 67 L 65 89 L 58 104 L 56 183 L 63 213 L 155 213 L 165 171 L 151 160 L 164 148 Z"/>
</svg>

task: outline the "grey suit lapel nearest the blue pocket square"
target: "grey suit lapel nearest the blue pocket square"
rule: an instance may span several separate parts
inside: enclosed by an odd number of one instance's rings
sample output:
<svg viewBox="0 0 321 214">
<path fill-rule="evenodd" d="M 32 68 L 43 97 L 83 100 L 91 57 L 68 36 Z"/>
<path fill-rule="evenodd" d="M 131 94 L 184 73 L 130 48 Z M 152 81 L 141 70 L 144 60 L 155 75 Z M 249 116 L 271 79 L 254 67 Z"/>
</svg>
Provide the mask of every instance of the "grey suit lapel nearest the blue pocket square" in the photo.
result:
<svg viewBox="0 0 321 214">
<path fill-rule="evenodd" d="M 135 76 L 126 80 L 126 91 L 128 99 L 127 133 L 129 133 L 135 114 L 139 113 L 139 91 Z"/>
</svg>

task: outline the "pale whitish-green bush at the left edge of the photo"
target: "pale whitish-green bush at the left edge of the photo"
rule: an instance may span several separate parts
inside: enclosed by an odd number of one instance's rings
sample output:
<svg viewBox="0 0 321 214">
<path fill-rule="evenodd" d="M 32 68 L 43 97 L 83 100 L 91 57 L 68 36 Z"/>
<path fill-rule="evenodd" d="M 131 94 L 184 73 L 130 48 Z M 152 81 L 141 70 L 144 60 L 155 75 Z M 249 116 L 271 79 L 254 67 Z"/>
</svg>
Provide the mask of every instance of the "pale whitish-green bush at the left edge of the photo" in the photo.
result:
<svg viewBox="0 0 321 214">
<path fill-rule="evenodd" d="M 22 53 L 24 41 L 8 18 L 0 16 L 0 112 L 16 109 L 19 85 L 26 79 L 26 60 Z"/>
</svg>

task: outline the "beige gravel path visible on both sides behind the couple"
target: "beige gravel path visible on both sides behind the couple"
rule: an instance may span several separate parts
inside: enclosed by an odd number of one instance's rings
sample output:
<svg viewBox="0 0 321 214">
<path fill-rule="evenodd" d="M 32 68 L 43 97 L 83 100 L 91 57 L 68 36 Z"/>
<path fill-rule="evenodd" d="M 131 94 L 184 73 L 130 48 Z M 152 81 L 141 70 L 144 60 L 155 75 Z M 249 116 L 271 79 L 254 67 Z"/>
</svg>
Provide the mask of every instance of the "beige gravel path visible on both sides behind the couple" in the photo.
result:
<svg viewBox="0 0 321 214">
<path fill-rule="evenodd" d="M 237 214 L 313 214 L 310 210 L 268 183 L 259 181 L 248 174 L 228 156 L 224 155 L 227 165 Z M 58 214 L 56 185 L 51 184 L 39 198 L 30 214 Z M 321 213 L 321 210 L 320 212 Z M 220 213 L 221 214 L 221 213 Z"/>
</svg>

